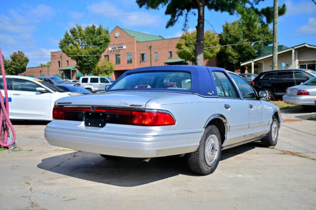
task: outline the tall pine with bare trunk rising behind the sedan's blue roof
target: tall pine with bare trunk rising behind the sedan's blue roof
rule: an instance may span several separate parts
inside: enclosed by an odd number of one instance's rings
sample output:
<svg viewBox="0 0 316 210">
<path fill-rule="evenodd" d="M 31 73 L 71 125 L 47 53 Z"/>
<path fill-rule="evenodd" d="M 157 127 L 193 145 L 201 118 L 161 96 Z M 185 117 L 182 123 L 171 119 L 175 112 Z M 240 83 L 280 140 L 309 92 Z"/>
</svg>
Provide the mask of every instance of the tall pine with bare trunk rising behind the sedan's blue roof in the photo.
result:
<svg viewBox="0 0 316 210">
<path fill-rule="evenodd" d="M 204 10 L 205 6 L 209 10 L 228 12 L 230 15 L 236 13 L 244 16 L 258 16 L 260 20 L 265 21 L 272 19 L 273 7 L 265 7 L 257 9 L 255 6 L 264 0 L 136 0 L 139 7 L 147 9 L 159 9 L 159 6 L 166 6 L 165 14 L 170 15 L 170 19 L 166 24 L 166 28 L 174 26 L 179 17 L 184 16 L 184 29 L 188 26 L 190 14 L 196 15 L 194 10 L 197 10 L 197 39 L 195 45 L 195 56 L 197 65 L 203 65 L 203 50 L 204 50 Z M 285 8 L 285 4 L 283 6 Z M 279 7 L 280 8 L 280 7 Z M 254 12 L 248 14 L 251 9 Z M 282 9 L 282 8 L 280 8 Z"/>
</svg>

